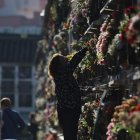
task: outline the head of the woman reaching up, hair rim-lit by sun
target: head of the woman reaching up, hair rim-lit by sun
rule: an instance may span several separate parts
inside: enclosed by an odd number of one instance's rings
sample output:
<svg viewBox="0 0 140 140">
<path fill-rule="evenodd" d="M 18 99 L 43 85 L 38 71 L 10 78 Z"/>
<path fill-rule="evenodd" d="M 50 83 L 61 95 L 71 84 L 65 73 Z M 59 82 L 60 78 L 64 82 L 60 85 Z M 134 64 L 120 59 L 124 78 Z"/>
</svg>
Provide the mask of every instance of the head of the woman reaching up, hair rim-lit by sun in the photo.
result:
<svg viewBox="0 0 140 140">
<path fill-rule="evenodd" d="M 49 64 L 49 74 L 54 77 L 63 69 L 67 62 L 67 57 L 61 54 L 54 54 Z"/>
</svg>

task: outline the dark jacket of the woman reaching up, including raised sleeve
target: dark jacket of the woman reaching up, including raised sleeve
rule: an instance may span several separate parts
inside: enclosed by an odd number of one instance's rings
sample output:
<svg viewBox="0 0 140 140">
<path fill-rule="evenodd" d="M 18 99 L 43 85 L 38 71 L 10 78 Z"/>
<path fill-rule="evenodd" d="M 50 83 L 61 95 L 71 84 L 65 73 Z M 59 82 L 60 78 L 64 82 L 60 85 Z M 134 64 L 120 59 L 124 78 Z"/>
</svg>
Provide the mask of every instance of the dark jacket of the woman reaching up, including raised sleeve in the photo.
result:
<svg viewBox="0 0 140 140">
<path fill-rule="evenodd" d="M 81 90 L 73 72 L 86 55 L 87 48 L 77 52 L 65 67 L 55 75 L 55 92 L 58 111 L 77 110 L 81 108 Z"/>
</svg>

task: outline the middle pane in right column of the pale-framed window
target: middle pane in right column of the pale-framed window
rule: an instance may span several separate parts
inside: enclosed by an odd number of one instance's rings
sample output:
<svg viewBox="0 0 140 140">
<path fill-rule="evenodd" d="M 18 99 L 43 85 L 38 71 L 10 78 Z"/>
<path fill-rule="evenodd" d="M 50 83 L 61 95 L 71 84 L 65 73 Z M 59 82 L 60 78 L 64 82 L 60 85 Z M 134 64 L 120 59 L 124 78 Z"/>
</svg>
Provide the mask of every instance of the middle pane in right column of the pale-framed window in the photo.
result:
<svg viewBox="0 0 140 140">
<path fill-rule="evenodd" d="M 19 93 L 31 94 L 32 93 L 32 83 L 30 81 L 20 81 L 18 85 Z"/>
</svg>

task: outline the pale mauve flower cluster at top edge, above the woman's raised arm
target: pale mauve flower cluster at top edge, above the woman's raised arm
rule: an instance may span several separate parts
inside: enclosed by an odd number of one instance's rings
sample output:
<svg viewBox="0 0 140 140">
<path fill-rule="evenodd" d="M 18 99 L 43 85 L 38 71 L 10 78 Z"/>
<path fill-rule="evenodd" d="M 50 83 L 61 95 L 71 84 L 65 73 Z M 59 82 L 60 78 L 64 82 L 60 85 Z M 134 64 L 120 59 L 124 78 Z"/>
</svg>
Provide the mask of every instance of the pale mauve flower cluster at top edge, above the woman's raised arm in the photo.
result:
<svg viewBox="0 0 140 140">
<path fill-rule="evenodd" d="M 72 11 L 69 14 L 67 23 L 63 24 L 64 29 L 71 30 L 72 37 L 75 40 L 79 40 L 88 28 L 88 1 L 72 1 Z"/>
</svg>

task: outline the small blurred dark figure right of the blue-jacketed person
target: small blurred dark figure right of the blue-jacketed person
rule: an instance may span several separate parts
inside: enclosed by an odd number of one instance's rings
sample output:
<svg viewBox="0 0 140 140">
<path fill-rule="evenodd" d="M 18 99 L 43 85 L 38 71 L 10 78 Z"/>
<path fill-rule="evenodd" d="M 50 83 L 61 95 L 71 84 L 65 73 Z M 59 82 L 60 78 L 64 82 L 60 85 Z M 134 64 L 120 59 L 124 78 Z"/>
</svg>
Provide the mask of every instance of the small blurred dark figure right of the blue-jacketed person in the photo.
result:
<svg viewBox="0 0 140 140">
<path fill-rule="evenodd" d="M 38 124 L 36 122 L 36 114 L 31 112 L 29 115 L 28 132 L 32 135 L 33 140 L 37 140 Z"/>
</svg>

